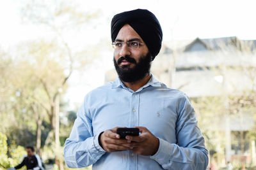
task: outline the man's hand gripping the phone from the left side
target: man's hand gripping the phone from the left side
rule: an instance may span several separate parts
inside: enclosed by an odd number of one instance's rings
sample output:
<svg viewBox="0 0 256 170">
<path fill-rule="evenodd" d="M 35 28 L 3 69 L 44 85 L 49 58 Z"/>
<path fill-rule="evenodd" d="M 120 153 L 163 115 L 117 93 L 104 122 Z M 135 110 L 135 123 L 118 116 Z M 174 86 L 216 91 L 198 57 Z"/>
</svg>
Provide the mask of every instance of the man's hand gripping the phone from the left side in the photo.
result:
<svg viewBox="0 0 256 170">
<path fill-rule="evenodd" d="M 115 127 L 113 129 L 104 131 L 100 135 L 100 143 L 102 144 L 102 148 L 106 150 L 106 152 L 130 150 L 128 146 L 125 146 L 125 144 L 128 144 L 129 141 L 127 141 L 127 139 L 120 139 L 120 135 L 116 134 L 117 128 L 118 127 Z"/>
</svg>

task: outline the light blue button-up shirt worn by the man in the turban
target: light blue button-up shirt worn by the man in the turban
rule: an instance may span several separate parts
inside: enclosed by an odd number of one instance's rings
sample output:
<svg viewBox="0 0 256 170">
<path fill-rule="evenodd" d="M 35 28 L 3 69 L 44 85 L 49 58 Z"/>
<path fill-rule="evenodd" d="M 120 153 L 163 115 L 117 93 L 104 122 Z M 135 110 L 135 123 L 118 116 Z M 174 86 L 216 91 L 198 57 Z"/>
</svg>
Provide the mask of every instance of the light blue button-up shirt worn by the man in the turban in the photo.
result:
<svg viewBox="0 0 256 170">
<path fill-rule="evenodd" d="M 106 152 L 99 145 L 100 132 L 114 127 L 143 126 L 159 138 L 159 149 L 152 156 L 129 150 Z M 206 169 L 204 138 L 197 126 L 195 111 L 188 97 L 166 87 L 154 78 L 134 92 L 118 78 L 84 98 L 64 156 L 68 167 L 93 169 Z"/>
</svg>

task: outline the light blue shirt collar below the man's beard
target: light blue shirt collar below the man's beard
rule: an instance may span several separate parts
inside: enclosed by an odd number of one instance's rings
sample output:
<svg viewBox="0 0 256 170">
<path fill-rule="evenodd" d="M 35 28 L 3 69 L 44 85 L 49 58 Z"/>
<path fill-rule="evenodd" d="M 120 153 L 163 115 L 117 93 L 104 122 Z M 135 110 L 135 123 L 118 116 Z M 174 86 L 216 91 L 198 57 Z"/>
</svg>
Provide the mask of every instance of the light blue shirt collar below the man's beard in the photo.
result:
<svg viewBox="0 0 256 170">
<path fill-rule="evenodd" d="M 143 89 L 145 87 L 148 87 L 148 86 L 152 86 L 152 87 L 161 87 L 161 83 L 155 78 L 155 76 L 151 73 L 151 78 L 150 80 L 148 80 L 148 82 L 143 85 L 143 87 L 141 87 L 140 89 Z M 115 89 L 115 88 L 123 88 L 123 89 L 127 89 L 127 87 L 125 87 L 124 83 L 120 80 L 120 78 L 116 78 L 115 81 L 113 81 L 113 84 L 112 84 L 112 89 Z"/>
</svg>

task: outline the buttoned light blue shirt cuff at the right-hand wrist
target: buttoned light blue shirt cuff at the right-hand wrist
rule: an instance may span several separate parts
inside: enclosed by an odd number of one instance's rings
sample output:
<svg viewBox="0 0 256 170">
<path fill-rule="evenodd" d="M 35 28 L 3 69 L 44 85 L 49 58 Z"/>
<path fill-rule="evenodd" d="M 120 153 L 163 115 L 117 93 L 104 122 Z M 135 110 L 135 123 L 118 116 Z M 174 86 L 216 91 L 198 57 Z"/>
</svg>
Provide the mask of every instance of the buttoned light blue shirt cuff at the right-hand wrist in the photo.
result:
<svg viewBox="0 0 256 170">
<path fill-rule="evenodd" d="M 172 150 L 174 149 L 171 143 L 164 141 L 164 139 L 159 139 L 159 148 L 157 152 L 150 156 L 151 159 L 156 160 L 159 164 L 166 164 L 166 162 L 170 161 Z"/>
</svg>

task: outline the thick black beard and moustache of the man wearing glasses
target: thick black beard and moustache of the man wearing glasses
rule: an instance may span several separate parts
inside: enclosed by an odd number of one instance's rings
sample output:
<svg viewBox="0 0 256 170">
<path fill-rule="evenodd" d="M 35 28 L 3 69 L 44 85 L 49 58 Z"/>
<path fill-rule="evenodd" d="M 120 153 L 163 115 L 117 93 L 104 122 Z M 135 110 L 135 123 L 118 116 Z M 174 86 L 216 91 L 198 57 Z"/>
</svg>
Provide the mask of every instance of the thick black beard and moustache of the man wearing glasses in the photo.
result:
<svg viewBox="0 0 256 170">
<path fill-rule="evenodd" d="M 138 63 L 136 63 L 136 60 L 129 57 L 120 57 L 118 61 L 116 62 L 114 57 L 114 65 L 116 69 L 116 73 L 118 74 L 119 78 L 124 82 L 135 82 L 138 80 L 142 80 L 147 76 L 147 74 L 150 73 L 150 67 L 151 67 L 151 55 L 148 52 L 146 56 L 142 56 Z M 128 62 L 134 63 L 135 66 L 132 68 L 129 68 L 129 66 L 118 66 L 122 62 L 122 60 L 127 60 Z"/>
</svg>

